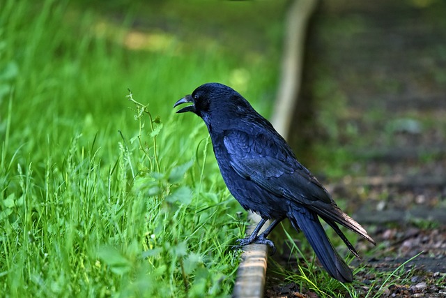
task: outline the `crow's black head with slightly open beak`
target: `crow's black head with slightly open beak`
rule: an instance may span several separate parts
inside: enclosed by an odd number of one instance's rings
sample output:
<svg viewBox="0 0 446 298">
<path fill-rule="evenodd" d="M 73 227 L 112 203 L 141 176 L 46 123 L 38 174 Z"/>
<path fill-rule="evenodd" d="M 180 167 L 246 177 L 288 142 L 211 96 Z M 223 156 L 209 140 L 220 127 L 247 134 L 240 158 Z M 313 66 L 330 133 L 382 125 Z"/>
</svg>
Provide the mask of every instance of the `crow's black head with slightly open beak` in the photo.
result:
<svg viewBox="0 0 446 298">
<path fill-rule="evenodd" d="M 237 91 L 220 83 L 202 84 L 192 94 L 178 100 L 174 107 L 191 103 L 177 113 L 194 112 L 206 124 L 211 121 L 224 121 L 231 117 L 242 116 L 252 110 L 251 105 Z"/>
</svg>

